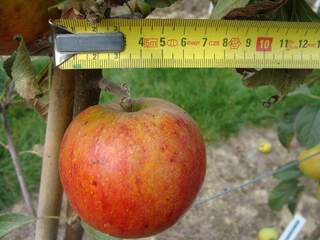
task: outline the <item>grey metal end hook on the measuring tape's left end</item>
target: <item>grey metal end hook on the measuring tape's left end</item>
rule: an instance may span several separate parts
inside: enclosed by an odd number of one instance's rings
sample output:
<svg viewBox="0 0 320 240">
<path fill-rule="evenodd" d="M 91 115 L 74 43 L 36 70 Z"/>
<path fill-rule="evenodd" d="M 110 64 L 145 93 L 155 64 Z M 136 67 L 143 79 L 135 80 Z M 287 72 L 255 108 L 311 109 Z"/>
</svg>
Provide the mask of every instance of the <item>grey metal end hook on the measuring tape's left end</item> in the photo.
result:
<svg viewBox="0 0 320 240">
<path fill-rule="evenodd" d="M 53 31 L 55 66 L 78 53 L 119 53 L 125 48 L 125 36 L 122 32 L 72 33 L 51 20 L 49 24 Z"/>
</svg>

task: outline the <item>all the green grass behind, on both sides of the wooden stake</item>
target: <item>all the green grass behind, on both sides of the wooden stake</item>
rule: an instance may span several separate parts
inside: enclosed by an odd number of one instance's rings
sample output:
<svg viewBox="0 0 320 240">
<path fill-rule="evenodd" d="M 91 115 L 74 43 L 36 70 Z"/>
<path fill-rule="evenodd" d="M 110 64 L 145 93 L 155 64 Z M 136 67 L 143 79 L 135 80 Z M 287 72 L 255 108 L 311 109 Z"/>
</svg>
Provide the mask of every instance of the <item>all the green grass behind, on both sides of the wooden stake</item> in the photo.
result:
<svg viewBox="0 0 320 240">
<path fill-rule="evenodd" d="M 134 97 L 160 97 L 181 106 L 198 122 L 207 141 L 226 139 L 250 125 L 270 126 L 287 105 L 307 101 L 303 97 L 288 99 L 272 109 L 265 109 L 262 102 L 275 91 L 269 87 L 247 89 L 232 70 L 108 70 L 105 76 L 118 83 L 127 83 Z M 317 92 L 320 93 L 319 89 Z M 110 99 L 107 93 L 101 96 L 101 102 Z M 45 123 L 31 109 L 13 107 L 9 117 L 18 151 L 30 150 L 34 144 L 43 143 Z M 0 139 L 4 141 L 2 131 Z M 29 189 L 37 191 L 41 159 L 24 154 L 20 160 Z M 0 210 L 19 197 L 11 160 L 0 148 Z"/>
</svg>

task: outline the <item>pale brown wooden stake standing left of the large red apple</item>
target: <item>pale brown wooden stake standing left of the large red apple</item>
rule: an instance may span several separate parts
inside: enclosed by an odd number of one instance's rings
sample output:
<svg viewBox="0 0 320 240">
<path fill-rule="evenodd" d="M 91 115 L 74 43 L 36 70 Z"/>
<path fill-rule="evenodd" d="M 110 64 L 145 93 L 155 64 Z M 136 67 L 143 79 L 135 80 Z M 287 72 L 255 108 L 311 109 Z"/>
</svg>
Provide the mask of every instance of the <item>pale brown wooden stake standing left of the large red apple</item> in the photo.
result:
<svg viewBox="0 0 320 240">
<path fill-rule="evenodd" d="M 59 216 L 62 187 L 59 178 L 59 149 L 63 134 L 72 119 L 74 71 L 54 69 L 42 162 L 35 240 L 55 240 L 58 223 L 46 216 Z"/>
</svg>

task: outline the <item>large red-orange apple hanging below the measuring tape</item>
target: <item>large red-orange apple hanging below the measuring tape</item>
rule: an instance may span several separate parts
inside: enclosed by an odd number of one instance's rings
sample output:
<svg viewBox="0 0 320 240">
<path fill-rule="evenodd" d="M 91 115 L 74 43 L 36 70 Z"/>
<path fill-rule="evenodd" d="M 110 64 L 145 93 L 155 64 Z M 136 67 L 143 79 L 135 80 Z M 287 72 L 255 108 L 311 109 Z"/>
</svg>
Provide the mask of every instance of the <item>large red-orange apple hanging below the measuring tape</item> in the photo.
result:
<svg viewBox="0 0 320 240">
<path fill-rule="evenodd" d="M 196 123 L 164 100 L 96 105 L 69 125 L 60 177 L 71 206 L 92 227 L 140 238 L 177 222 L 196 198 L 206 171 Z"/>
</svg>

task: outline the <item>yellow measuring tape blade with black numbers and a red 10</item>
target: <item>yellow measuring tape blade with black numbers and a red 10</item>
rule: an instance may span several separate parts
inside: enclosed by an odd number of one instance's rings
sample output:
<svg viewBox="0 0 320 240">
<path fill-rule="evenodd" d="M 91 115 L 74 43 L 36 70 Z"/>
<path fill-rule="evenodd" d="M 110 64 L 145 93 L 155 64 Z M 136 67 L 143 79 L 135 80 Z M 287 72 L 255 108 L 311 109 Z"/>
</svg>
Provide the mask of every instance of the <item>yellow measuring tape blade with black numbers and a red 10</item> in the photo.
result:
<svg viewBox="0 0 320 240">
<path fill-rule="evenodd" d="M 191 19 L 58 20 L 74 33 L 124 34 L 120 53 L 76 54 L 62 69 L 320 68 L 320 24 Z"/>
</svg>

